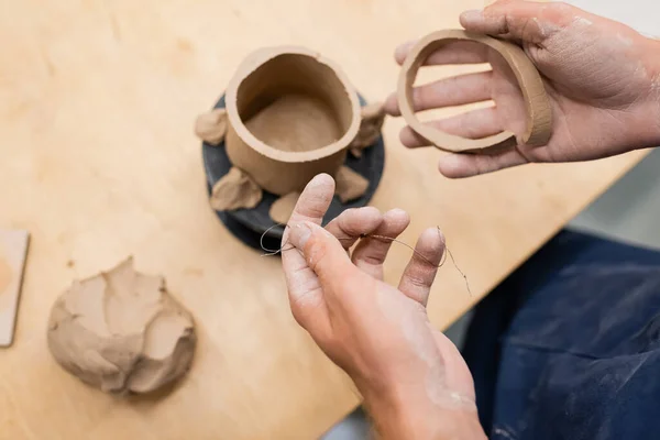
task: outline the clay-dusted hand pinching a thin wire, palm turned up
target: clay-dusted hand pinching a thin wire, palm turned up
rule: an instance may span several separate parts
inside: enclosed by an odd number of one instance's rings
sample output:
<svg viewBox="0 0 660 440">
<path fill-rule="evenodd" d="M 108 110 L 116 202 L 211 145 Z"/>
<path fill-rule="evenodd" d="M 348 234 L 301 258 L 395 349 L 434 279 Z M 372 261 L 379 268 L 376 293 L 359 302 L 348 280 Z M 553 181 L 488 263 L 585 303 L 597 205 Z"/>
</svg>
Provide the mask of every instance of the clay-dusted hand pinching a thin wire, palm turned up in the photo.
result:
<svg viewBox="0 0 660 440">
<path fill-rule="evenodd" d="M 330 176 L 315 177 L 283 238 L 294 317 L 353 378 L 385 438 L 485 438 L 470 371 L 426 312 L 442 235 L 437 228 L 420 235 L 416 250 L 424 257 L 415 254 L 393 287 L 383 282 L 392 242 L 382 237 L 399 235 L 408 215 L 348 210 L 323 229 L 333 194 Z"/>
</svg>

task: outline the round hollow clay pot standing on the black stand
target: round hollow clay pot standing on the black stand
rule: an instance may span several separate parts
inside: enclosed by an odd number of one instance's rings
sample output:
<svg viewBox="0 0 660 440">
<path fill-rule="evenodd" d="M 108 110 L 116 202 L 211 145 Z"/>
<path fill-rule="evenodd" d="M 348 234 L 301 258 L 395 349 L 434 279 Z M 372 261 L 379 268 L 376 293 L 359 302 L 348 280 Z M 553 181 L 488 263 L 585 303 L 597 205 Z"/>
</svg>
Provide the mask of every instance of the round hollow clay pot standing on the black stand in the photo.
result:
<svg viewBox="0 0 660 440">
<path fill-rule="evenodd" d="M 230 161 L 280 196 L 319 173 L 333 176 L 361 122 L 346 76 L 305 47 L 254 52 L 231 79 L 226 105 Z"/>
</svg>

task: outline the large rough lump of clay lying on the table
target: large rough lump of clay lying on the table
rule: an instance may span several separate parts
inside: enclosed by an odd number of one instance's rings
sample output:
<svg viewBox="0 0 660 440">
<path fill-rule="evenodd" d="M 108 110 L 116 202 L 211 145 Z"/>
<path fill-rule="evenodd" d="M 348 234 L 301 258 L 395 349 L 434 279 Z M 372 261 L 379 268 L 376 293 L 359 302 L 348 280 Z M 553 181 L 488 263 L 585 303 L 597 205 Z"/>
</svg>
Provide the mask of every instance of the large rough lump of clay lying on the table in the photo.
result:
<svg viewBox="0 0 660 440">
<path fill-rule="evenodd" d="M 160 276 L 129 258 L 75 282 L 53 306 L 48 348 L 69 373 L 107 393 L 150 393 L 186 374 L 197 338 L 191 315 Z"/>
</svg>

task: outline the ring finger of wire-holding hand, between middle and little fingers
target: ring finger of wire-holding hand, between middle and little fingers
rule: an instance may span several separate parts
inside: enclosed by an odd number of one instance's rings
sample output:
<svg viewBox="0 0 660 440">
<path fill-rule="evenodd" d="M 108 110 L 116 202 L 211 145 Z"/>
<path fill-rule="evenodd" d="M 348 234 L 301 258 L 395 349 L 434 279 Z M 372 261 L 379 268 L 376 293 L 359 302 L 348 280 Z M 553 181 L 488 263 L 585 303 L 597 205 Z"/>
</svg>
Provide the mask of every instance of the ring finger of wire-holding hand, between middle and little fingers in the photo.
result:
<svg viewBox="0 0 660 440">
<path fill-rule="evenodd" d="M 403 209 L 385 212 L 381 226 L 371 235 L 360 240 L 353 251 L 352 261 L 355 266 L 377 279 L 383 279 L 383 263 L 392 246 L 392 240 L 399 237 L 408 228 L 410 216 Z"/>
</svg>

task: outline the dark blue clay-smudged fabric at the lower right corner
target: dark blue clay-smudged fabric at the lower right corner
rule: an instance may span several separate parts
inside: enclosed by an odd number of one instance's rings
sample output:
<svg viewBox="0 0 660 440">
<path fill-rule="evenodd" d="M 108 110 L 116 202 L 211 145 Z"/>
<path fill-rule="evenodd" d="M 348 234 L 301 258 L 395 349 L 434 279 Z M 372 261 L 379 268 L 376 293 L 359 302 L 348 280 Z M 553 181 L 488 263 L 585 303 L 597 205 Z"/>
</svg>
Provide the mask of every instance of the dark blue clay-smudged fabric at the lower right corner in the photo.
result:
<svg viewBox="0 0 660 440">
<path fill-rule="evenodd" d="M 477 307 L 491 439 L 660 439 L 660 252 L 561 232 Z"/>
</svg>

